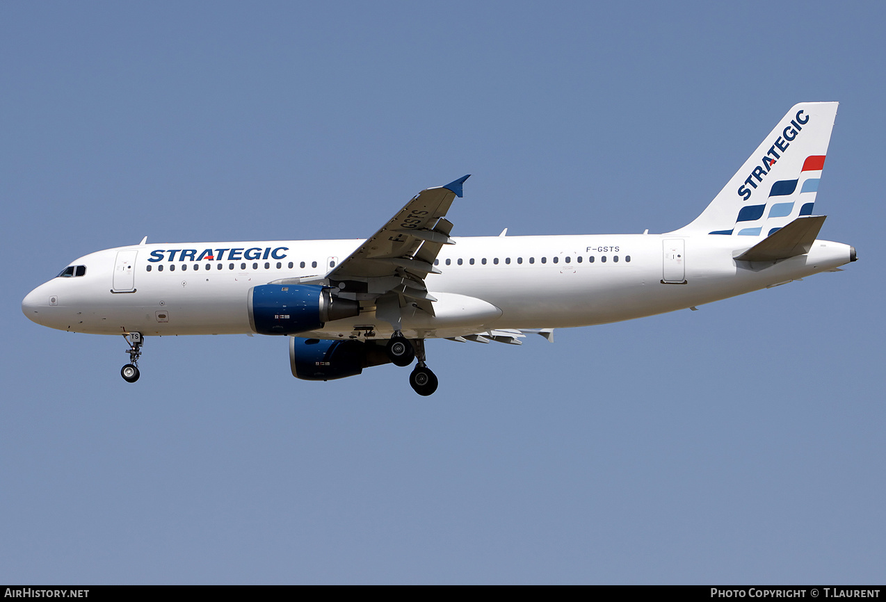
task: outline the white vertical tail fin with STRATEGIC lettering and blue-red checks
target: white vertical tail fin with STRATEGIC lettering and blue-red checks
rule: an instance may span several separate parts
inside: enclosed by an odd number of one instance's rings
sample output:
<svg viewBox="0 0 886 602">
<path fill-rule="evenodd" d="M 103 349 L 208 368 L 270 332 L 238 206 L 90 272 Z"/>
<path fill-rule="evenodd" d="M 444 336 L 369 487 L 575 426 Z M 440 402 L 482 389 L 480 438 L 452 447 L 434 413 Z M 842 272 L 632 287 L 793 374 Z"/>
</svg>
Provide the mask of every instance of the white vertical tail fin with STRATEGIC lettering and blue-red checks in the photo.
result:
<svg viewBox="0 0 886 602">
<path fill-rule="evenodd" d="M 671 234 L 767 236 L 812 215 L 838 103 L 800 103 L 692 223 Z"/>
</svg>

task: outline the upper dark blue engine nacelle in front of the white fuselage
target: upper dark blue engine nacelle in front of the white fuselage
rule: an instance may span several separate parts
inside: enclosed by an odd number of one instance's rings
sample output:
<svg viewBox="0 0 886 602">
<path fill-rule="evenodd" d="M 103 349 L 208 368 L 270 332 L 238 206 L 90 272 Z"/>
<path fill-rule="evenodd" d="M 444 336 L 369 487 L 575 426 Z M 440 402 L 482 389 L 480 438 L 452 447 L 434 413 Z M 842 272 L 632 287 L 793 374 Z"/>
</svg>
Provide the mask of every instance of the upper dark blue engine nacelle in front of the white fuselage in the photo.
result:
<svg viewBox="0 0 886 602">
<path fill-rule="evenodd" d="M 360 314 L 360 304 L 316 284 L 261 284 L 246 297 L 249 325 L 260 335 L 295 335 Z"/>
</svg>

